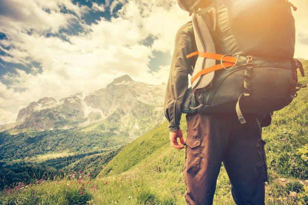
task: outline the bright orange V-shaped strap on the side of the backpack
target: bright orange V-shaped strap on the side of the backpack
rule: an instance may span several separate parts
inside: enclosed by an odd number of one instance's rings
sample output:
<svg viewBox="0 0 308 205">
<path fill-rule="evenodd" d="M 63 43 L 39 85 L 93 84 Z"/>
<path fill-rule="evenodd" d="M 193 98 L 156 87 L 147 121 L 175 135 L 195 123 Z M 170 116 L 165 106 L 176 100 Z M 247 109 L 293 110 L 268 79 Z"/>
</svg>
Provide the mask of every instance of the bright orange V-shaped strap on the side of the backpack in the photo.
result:
<svg viewBox="0 0 308 205">
<path fill-rule="evenodd" d="M 192 79 L 192 82 L 194 82 L 198 77 L 200 77 L 201 75 L 204 75 L 206 73 L 209 73 L 209 72 L 212 72 L 212 71 L 215 71 L 215 70 L 219 70 L 219 69 L 222 69 L 222 68 L 230 67 L 230 66 L 235 66 L 237 64 L 237 60 L 238 60 L 238 58 L 231 57 L 231 56 L 220 55 L 220 54 L 217 54 L 217 53 L 199 52 L 199 51 L 188 54 L 186 56 L 186 58 L 191 58 L 192 56 L 195 56 L 195 55 L 198 55 L 198 56 L 203 57 L 203 58 L 220 60 L 221 63 L 200 70 L 194 76 L 194 78 Z M 226 62 L 222 63 L 222 61 L 226 61 Z"/>
</svg>

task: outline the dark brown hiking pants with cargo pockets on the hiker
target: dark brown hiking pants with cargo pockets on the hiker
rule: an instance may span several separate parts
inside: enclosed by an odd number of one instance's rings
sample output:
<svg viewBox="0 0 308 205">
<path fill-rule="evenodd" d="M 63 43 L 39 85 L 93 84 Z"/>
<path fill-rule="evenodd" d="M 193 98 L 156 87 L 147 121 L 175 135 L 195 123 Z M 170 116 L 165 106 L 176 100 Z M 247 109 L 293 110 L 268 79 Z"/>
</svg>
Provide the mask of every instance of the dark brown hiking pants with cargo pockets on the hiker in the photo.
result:
<svg viewBox="0 0 308 205">
<path fill-rule="evenodd" d="M 257 115 L 187 114 L 187 140 L 183 167 L 188 204 L 212 204 L 223 162 L 238 205 L 265 204 L 267 165 L 265 141 Z"/>
</svg>

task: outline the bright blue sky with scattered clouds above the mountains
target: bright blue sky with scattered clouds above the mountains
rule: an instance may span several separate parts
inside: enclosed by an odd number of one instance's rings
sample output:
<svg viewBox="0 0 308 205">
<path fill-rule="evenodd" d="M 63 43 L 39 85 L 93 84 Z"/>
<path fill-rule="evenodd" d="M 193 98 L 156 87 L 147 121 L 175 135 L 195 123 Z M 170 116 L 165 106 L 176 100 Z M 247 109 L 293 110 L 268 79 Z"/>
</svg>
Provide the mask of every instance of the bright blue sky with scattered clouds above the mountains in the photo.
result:
<svg viewBox="0 0 308 205">
<path fill-rule="evenodd" d="M 308 59 L 308 1 L 291 2 L 294 56 Z M 1 0 L 0 125 L 31 101 L 90 93 L 124 74 L 167 82 L 176 32 L 189 20 L 175 0 Z"/>
</svg>

